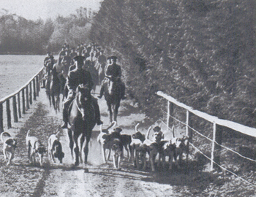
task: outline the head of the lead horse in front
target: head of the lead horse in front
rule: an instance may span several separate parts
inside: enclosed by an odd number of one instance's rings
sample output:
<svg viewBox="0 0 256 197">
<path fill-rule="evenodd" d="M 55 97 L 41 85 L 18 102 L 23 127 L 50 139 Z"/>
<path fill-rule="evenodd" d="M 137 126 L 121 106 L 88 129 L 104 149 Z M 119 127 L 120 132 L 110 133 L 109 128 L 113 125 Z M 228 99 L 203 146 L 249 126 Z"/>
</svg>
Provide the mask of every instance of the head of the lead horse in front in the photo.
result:
<svg viewBox="0 0 256 197">
<path fill-rule="evenodd" d="M 81 112 L 83 120 L 85 120 L 86 116 L 86 106 L 91 104 L 91 90 L 88 88 L 87 85 L 78 85 L 76 89 L 76 103 L 78 106 L 79 111 Z"/>
</svg>

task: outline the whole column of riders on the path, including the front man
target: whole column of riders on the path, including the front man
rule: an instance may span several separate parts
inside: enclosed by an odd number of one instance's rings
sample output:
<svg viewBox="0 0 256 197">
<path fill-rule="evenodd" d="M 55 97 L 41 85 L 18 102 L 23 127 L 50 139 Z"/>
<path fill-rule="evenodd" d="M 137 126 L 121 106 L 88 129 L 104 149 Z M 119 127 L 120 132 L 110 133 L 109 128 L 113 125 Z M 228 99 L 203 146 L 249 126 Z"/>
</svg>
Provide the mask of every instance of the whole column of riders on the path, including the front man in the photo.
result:
<svg viewBox="0 0 256 197">
<path fill-rule="evenodd" d="M 94 85 L 102 85 L 98 98 L 101 99 L 105 91 L 112 89 L 113 82 L 120 87 L 121 99 L 125 97 L 125 85 L 121 81 L 121 66 L 116 64 L 117 57 L 110 56 L 106 58 L 103 54 L 104 50 L 92 42 L 91 44 L 80 44 L 76 48 L 69 50 L 69 45 L 63 45 L 59 53 L 58 60 L 54 60 L 52 53 L 48 52 L 48 56 L 44 60 L 44 74 L 42 77 L 42 87 L 46 92 L 50 91 L 50 77 L 57 74 L 61 88 L 66 98 L 63 102 L 63 123 L 61 128 L 67 128 L 68 125 L 68 109 L 72 100 L 75 99 L 75 90 L 78 85 L 84 85 L 89 90 Z M 94 113 L 97 125 L 101 125 L 99 105 L 97 99 L 91 96 L 91 103 L 94 106 Z"/>
</svg>

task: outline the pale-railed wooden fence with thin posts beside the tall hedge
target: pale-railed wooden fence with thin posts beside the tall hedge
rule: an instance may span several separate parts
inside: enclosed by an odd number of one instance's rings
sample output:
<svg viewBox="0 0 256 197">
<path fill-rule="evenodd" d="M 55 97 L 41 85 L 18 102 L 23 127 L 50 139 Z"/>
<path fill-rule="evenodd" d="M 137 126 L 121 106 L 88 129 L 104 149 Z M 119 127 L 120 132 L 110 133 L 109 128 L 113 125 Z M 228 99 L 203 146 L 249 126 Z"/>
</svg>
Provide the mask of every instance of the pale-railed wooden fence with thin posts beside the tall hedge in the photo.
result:
<svg viewBox="0 0 256 197">
<path fill-rule="evenodd" d="M 174 99 L 171 96 L 167 96 L 167 94 L 162 93 L 161 91 L 157 92 L 158 96 L 162 96 L 167 100 L 167 123 L 166 125 L 170 127 L 170 119 L 171 116 L 173 115 L 173 109 L 174 109 L 174 104 L 176 106 L 181 107 L 183 109 L 187 110 L 187 120 L 186 120 L 186 134 L 189 136 L 189 139 L 192 139 L 192 119 L 190 118 L 191 115 L 197 115 L 198 117 L 203 118 L 204 120 L 208 120 L 210 123 L 213 123 L 213 139 L 211 140 L 212 142 L 212 147 L 211 147 L 211 170 L 214 168 L 214 163 L 219 163 L 219 158 L 220 158 L 220 150 L 221 150 L 221 144 L 222 144 L 222 129 L 223 126 L 227 128 L 231 128 L 235 131 L 240 132 L 241 134 L 246 134 L 248 136 L 252 136 L 256 138 L 256 128 L 250 128 L 245 125 L 241 125 L 238 123 L 234 123 L 229 120 L 222 120 L 219 119 L 218 117 L 214 117 L 211 115 L 208 115 L 204 112 L 200 112 L 198 110 L 192 109 L 192 107 L 189 107 L 185 104 L 182 104 L 176 99 Z M 191 142 L 191 140 L 190 140 Z"/>
</svg>

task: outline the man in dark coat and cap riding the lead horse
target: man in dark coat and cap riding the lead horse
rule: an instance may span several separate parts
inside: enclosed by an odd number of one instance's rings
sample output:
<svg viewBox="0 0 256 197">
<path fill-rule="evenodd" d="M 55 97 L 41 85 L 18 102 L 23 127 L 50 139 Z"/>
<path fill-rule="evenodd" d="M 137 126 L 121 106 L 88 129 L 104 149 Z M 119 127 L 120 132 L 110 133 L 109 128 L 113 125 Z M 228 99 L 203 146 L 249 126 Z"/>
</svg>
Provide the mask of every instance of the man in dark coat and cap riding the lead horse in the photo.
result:
<svg viewBox="0 0 256 197">
<path fill-rule="evenodd" d="M 61 128 L 67 128 L 69 104 L 71 104 L 72 100 L 75 98 L 75 90 L 78 87 L 78 85 L 80 84 L 86 85 L 90 90 L 94 85 L 90 72 L 87 72 L 82 68 L 84 57 L 81 55 L 78 55 L 74 58 L 74 60 L 75 60 L 76 68 L 70 71 L 67 77 L 67 88 L 69 90 L 69 93 L 68 93 L 67 99 L 64 101 L 64 104 L 63 104 L 64 123 L 62 123 Z M 101 125 L 102 121 L 100 120 L 100 112 L 99 112 L 99 105 L 97 104 L 97 99 L 91 96 L 91 100 L 92 100 L 92 103 L 94 104 L 96 123 L 97 125 Z"/>
</svg>

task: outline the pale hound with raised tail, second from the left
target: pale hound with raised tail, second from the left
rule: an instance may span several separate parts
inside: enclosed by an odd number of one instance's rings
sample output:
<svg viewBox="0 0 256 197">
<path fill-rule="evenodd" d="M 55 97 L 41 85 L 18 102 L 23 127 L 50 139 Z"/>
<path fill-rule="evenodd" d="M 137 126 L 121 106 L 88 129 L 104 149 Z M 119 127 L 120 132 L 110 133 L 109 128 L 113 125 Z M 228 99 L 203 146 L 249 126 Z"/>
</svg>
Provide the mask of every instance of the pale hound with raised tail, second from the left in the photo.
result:
<svg viewBox="0 0 256 197">
<path fill-rule="evenodd" d="M 36 163 L 35 154 L 37 153 L 40 166 L 42 166 L 42 158 L 44 152 L 46 152 L 45 147 L 42 145 L 39 139 L 37 139 L 36 136 L 29 136 L 29 132 L 30 130 L 26 134 L 26 147 L 29 152 L 29 162 L 33 164 Z"/>
</svg>

